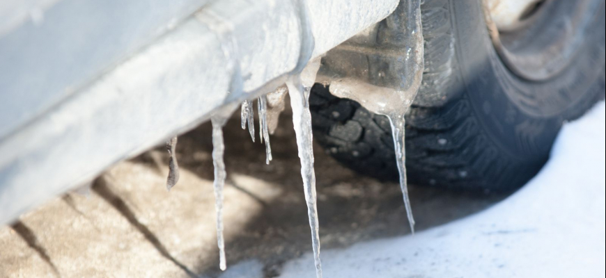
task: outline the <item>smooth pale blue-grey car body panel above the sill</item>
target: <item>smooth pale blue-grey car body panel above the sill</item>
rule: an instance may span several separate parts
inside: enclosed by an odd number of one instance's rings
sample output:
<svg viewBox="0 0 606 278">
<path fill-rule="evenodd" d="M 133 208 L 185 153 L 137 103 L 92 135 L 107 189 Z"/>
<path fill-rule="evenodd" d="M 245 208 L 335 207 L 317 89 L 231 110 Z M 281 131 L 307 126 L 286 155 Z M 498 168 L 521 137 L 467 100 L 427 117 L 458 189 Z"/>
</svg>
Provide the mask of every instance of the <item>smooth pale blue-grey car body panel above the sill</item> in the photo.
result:
<svg viewBox="0 0 606 278">
<path fill-rule="evenodd" d="M 42 115 L 209 1 L 1 4 L 0 8 L 12 10 L 0 15 L 14 16 L 0 22 L 0 138 Z"/>
</svg>

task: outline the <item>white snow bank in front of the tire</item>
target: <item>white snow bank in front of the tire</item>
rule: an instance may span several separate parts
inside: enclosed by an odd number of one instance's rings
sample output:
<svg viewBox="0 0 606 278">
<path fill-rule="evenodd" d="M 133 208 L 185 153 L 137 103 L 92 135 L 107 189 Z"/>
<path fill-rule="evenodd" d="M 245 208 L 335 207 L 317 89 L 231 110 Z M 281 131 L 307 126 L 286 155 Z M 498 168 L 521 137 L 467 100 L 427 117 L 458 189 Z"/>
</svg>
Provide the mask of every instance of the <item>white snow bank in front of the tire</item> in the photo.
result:
<svg viewBox="0 0 606 278">
<path fill-rule="evenodd" d="M 604 103 L 566 124 L 543 170 L 481 213 L 415 236 L 323 250 L 324 276 L 605 277 L 605 125 Z M 263 278 L 262 269 L 246 261 L 220 278 Z M 286 263 L 279 277 L 315 277 L 313 256 Z"/>
</svg>

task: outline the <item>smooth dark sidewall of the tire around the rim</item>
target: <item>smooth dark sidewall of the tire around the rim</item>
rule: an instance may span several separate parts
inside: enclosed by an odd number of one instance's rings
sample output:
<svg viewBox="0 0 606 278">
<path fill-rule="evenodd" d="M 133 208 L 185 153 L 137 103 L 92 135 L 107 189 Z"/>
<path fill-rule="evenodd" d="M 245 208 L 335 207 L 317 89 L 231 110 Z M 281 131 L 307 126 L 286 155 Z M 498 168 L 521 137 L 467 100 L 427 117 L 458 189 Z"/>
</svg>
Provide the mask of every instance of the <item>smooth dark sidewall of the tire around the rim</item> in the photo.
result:
<svg viewBox="0 0 606 278">
<path fill-rule="evenodd" d="M 489 138 L 506 154 L 543 161 L 561 125 L 580 116 L 600 94 L 605 61 L 604 8 L 566 70 L 543 82 L 515 76 L 500 60 L 481 1 L 451 0 L 451 20 L 463 97 Z M 603 88 L 601 89 L 603 95 Z"/>
</svg>

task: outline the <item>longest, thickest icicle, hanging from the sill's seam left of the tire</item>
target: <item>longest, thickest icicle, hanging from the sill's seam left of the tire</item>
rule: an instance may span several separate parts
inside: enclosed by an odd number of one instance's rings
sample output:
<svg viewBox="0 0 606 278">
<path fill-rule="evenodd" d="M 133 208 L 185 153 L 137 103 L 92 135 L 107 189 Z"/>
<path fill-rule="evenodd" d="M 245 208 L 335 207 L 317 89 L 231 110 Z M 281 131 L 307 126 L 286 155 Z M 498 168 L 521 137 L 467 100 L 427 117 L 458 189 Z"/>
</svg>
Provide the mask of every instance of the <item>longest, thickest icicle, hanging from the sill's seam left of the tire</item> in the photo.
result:
<svg viewBox="0 0 606 278">
<path fill-rule="evenodd" d="M 320 67 L 320 60 L 315 60 L 301 73 L 290 76 L 286 85 L 290 95 L 290 106 L 293 108 L 293 124 L 297 135 L 297 147 L 301 160 L 301 177 L 311 227 L 311 241 L 313 246 L 313 259 L 316 262 L 316 275 L 322 277 L 322 264 L 320 263 L 320 235 L 318 222 L 318 207 L 316 204 L 316 173 L 313 170 L 313 145 L 311 133 L 311 113 L 309 113 L 309 92 L 316 72 Z"/>
</svg>

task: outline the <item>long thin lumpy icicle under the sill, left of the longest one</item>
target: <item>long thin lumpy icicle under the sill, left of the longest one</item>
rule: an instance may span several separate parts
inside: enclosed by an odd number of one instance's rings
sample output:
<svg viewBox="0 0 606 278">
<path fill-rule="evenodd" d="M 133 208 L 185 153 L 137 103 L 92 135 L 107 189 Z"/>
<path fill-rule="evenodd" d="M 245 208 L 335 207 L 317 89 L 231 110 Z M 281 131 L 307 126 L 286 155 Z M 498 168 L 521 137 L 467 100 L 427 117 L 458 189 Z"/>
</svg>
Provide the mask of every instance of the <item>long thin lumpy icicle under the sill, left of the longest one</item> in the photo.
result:
<svg viewBox="0 0 606 278">
<path fill-rule="evenodd" d="M 225 240 L 223 237 L 223 188 L 225 184 L 225 163 L 223 153 L 223 126 L 227 122 L 222 117 L 212 117 L 212 164 L 215 165 L 215 211 L 217 212 L 217 244 L 219 245 L 219 268 L 227 269 L 225 259 Z"/>
</svg>

